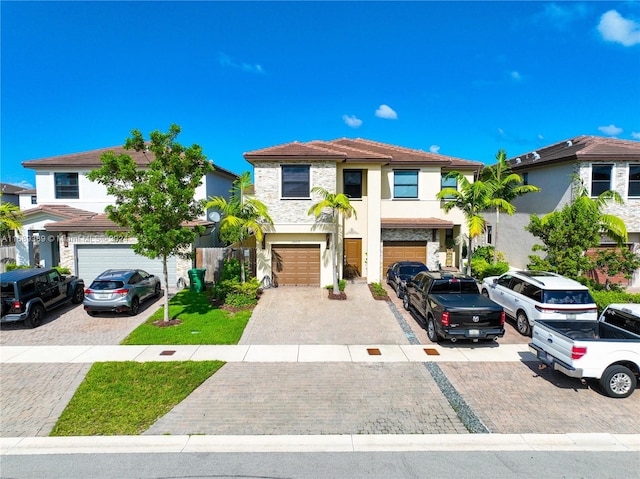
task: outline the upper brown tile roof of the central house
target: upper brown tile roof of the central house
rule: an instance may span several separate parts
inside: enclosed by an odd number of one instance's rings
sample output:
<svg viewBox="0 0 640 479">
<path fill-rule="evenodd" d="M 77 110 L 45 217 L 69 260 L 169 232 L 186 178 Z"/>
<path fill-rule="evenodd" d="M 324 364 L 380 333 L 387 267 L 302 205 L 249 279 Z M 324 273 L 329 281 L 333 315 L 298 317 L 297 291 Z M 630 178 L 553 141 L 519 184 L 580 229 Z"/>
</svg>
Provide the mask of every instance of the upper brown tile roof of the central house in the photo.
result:
<svg viewBox="0 0 640 479">
<path fill-rule="evenodd" d="M 414 150 L 362 138 L 340 138 L 332 141 L 297 141 L 250 151 L 244 154 L 249 163 L 258 160 L 335 160 L 342 162 L 382 162 L 397 166 L 436 165 L 451 169 L 477 170 L 478 161 L 463 160 L 422 150 Z"/>
</svg>

